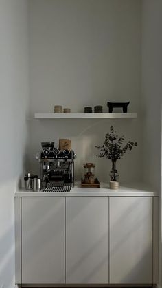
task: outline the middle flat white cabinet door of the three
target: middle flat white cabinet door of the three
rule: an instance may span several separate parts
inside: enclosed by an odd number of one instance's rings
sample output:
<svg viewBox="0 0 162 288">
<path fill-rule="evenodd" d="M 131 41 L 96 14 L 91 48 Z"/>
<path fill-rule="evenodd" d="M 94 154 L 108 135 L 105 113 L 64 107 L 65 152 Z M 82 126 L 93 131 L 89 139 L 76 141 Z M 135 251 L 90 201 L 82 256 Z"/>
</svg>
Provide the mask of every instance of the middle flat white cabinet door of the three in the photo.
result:
<svg viewBox="0 0 162 288">
<path fill-rule="evenodd" d="M 69 197 L 66 282 L 108 283 L 108 197 Z"/>
</svg>

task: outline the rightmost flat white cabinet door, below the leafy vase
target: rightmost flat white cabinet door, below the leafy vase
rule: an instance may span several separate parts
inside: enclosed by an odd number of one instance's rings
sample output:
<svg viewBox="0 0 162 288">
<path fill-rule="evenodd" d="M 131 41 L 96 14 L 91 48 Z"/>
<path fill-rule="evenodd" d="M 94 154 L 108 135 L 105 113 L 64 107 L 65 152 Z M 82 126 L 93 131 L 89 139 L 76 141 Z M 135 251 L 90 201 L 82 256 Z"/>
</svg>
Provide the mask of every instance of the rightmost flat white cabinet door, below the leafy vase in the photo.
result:
<svg viewBox="0 0 162 288">
<path fill-rule="evenodd" d="M 152 197 L 110 197 L 110 283 L 152 283 Z"/>
</svg>

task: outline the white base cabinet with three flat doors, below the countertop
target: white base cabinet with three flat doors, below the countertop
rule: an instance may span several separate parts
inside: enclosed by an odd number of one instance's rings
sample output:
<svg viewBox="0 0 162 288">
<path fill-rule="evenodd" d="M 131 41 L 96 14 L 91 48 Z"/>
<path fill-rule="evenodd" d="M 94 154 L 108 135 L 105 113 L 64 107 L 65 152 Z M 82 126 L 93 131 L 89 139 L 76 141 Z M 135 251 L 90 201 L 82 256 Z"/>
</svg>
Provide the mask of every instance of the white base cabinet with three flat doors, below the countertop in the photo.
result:
<svg viewBox="0 0 162 288">
<path fill-rule="evenodd" d="M 152 285 L 159 198 L 16 197 L 15 239 L 16 283 Z"/>
</svg>

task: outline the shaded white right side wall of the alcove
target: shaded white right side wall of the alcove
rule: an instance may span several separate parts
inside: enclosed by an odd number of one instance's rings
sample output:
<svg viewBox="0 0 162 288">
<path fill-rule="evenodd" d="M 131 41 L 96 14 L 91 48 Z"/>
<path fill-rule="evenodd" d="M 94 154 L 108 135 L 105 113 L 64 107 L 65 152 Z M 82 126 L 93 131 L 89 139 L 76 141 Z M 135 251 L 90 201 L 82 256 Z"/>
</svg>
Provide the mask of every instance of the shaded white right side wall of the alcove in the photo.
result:
<svg viewBox="0 0 162 288">
<path fill-rule="evenodd" d="M 162 1 L 142 5 L 143 179 L 161 195 Z M 161 203 L 160 203 L 161 208 Z M 161 211 L 161 209 L 160 209 Z M 160 214 L 161 223 L 161 214 Z M 160 262 L 162 236 L 160 225 Z M 160 284 L 162 269 L 160 266 Z"/>
</svg>

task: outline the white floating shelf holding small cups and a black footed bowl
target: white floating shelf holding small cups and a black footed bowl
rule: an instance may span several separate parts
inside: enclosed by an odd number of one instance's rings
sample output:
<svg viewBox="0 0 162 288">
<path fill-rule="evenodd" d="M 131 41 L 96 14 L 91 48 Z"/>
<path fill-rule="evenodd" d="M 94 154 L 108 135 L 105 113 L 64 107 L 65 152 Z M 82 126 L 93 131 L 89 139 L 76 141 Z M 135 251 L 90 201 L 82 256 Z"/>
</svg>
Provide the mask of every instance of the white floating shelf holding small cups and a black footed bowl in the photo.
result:
<svg viewBox="0 0 162 288">
<path fill-rule="evenodd" d="M 130 120 L 137 118 L 137 113 L 35 113 L 34 118 L 54 120 Z"/>
</svg>

